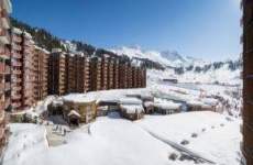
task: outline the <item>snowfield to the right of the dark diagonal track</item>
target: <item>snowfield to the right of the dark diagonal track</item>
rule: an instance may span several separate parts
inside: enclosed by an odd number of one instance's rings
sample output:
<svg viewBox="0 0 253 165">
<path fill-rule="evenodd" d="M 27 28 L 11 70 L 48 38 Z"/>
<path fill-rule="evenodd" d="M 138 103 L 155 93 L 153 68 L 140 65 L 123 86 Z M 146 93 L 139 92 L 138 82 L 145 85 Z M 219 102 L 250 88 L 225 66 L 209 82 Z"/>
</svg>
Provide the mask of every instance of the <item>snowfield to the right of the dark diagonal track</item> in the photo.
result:
<svg viewBox="0 0 253 165">
<path fill-rule="evenodd" d="M 165 117 L 146 116 L 136 123 L 143 129 L 178 144 L 188 140 L 187 148 L 209 157 L 218 164 L 240 164 L 241 121 L 230 121 L 226 116 L 206 111 Z M 196 133 L 197 138 L 193 138 L 193 133 Z"/>
</svg>

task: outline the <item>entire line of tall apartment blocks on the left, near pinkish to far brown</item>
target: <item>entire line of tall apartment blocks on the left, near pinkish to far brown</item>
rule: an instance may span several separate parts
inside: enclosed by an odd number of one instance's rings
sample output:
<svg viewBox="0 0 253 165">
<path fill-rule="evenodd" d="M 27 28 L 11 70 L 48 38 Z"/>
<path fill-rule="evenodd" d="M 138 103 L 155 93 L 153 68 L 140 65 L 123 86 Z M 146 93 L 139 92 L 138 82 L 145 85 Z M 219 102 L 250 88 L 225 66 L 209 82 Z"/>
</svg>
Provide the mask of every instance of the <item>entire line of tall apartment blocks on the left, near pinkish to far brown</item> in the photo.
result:
<svg viewBox="0 0 253 165">
<path fill-rule="evenodd" d="M 48 95 L 142 88 L 146 70 L 120 57 L 48 52 L 31 34 L 12 28 L 10 0 L 0 0 L 0 146 L 6 143 L 4 112 L 35 106 Z"/>
</svg>

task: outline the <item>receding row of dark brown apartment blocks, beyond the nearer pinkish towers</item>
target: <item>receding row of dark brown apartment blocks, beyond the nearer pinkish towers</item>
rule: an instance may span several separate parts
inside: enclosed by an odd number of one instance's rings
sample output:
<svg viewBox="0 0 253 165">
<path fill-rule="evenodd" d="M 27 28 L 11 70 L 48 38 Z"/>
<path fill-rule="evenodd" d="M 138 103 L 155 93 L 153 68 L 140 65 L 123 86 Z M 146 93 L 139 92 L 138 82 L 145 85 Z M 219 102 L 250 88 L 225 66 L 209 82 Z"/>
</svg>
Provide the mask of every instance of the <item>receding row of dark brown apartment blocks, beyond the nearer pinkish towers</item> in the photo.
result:
<svg viewBox="0 0 253 165">
<path fill-rule="evenodd" d="M 145 68 L 107 54 L 89 57 L 54 48 L 50 55 L 48 73 L 50 95 L 146 86 Z"/>
</svg>

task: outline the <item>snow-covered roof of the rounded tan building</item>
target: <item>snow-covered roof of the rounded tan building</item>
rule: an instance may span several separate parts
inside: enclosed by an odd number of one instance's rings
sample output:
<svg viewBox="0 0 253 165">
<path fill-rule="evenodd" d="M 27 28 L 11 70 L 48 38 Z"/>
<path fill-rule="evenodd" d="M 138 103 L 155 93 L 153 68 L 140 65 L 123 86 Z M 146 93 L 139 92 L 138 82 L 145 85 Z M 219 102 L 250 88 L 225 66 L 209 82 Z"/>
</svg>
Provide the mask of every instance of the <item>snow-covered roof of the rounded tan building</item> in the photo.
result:
<svg viewBox="0 0 253 165">
<path fill-rule="evenodd" d="M 88 102 L 96 101 L 96 99 L 92 96 L 75 95 L 75 94 L 67 95 L 63 99 L 64 101 L 70 101 L 76 103 L 88 103 Z"/>
</svg>

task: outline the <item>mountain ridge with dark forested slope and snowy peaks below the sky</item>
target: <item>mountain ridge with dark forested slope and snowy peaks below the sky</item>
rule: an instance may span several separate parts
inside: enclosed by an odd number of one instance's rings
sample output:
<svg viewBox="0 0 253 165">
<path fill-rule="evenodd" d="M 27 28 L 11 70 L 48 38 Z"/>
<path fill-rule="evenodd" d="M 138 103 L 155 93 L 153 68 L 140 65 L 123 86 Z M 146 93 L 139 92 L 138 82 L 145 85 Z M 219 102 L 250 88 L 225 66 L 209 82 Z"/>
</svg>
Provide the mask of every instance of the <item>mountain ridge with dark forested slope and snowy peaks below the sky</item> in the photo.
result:
<svg viewBox="0 0 253 165">
<path fill-rule="evenodd" d="M 112 48 L 99 48 L 80 41 L 67 41 L 59 38 L 45 29 L 33 28 L 26 23 L 11 18 L 13 26 L 24 30 L 33 36 L 35 43 L 48 51 L 55 47 L 63 48 L 66 52 L 82 52 L 88 56 L 101 56 L 108 54 L 123 62 L 131 62 L 138 66 L 144 66 L 148 69 L 172 69 L 177 75 L 187 73 L 205 74 L 209 70 L 219 70 L 222 66 L 228 66 L 231 72 L 240 70 L 241 61 L 228 61 L 210 63 L 195 57 L 183 56 L 177 52 L 170 51 L 148 51 L 140 46 L 116 46 Z"/>
</svg>

